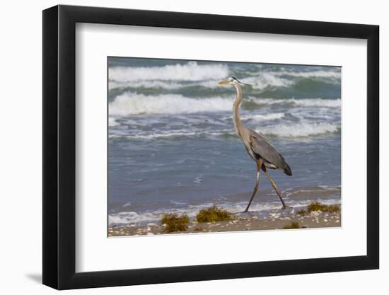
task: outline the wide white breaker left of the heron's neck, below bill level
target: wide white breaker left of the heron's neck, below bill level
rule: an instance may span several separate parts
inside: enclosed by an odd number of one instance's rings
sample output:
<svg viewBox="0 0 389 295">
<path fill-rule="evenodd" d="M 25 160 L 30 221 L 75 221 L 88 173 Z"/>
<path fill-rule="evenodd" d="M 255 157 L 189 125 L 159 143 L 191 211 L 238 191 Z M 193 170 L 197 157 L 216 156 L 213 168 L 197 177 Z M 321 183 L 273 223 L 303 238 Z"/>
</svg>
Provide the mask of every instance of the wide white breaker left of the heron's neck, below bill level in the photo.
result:
<svg viewBox="0 0 389 295">
<path fill-rule="evenodd" d="M 110 115 L 178 114 L 231 110 L 232 98 L 186 98 L 179 94 L 144 96 L 132 92 L 117 96 L 109 105 Z"/>
</svg>

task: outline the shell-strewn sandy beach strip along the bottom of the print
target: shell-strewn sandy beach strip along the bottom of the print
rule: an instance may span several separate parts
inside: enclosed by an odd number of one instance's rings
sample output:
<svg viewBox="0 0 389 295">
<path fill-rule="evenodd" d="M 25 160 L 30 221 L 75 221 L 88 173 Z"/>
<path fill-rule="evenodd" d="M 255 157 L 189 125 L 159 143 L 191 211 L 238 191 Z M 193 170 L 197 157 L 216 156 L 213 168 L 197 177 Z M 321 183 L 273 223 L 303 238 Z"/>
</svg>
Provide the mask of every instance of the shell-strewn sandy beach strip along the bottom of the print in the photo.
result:
<svg viewBox="0 0 389 295">
<path fill-rule="evenodd" d="M 288 230 L 284 226 L 298 223 L 301 229 L 339 227 L 341 226 L 341 214 L 339 212 L 314 211 L 307 214 L 297 214 L 296 210 L 278 209 L 271 210 L 266 216 L 263 212 L 248 212 L 236 214 L 232 221 L 217 221 L 198 223 L 190 220 L 186 231 L 175 233 L 210 233 L 224 231 L 260 231 L 260 230 Z M 149 223 L 146 226 L 128 224 L 124 226 L 111 226 L 108 229 L 108 236 L 145 236 L 170 234 L 164 231 L 164 226 L 158 223 Z"/>
</svg>

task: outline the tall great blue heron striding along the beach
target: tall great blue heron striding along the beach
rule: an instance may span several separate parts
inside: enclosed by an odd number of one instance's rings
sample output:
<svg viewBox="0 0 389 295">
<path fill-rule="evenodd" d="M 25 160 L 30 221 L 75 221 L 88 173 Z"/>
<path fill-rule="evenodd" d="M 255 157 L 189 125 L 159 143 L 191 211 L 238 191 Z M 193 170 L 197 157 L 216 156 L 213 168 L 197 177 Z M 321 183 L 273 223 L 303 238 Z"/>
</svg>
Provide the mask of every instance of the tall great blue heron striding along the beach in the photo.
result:
<svg viewBox="0 0 389 295">
<path fill-rule="evenodd" d="M 286 209 L 285 202 L 282 199 L 281 194 L 279 193 L 277 185 L 276 183 L 274 183 L 269 173 L 267 173 L 266 168 L 282 170 L 286 175 L 289 176 L 291 176 L 291 168 L 284 160 L 284 157 L 279 154 L 277 149 L 275 149 L 274 146 L 269 143 L 269 141 L 261 137 L 260 134 L 257 134 L 257 132 L 255 132 L 254 130 L 245 127 L 242 121 L 240 121 L 239 105 L 242 101 L 242 88 L 240 87 L 240 85 L 245 85 L 245 83 L 238 81 L 238 79 L 236 79 L 235 77 L 230 77 L 225 81 L 220 81 L 219 84 L 233 85 L 236 88 L 236 99 L 233 103 L 233 125 L 235 127 L 236 133 L 243 141 L 248 155 L 250 156 L 250 158 L 252 158 L 252 160 L 255 161 L 255 163 L 257 163 L 257 180 L 255 182 L 254 191 L 252 192 L 250 201 L 248 202 L 245 212 L 248 212 L 248 208 L 250 207 L 252 199 L 254 198 L 255 193 L 257 192 L 258 187 L 260 185 L 261 169 L 263 170 L 263 172 L 265 172 L 265 175 L 270 180 L 270 183 L 272 183 L 272 187 L 276 191 L 282 203 L 282 208 Z"/>
</svg>

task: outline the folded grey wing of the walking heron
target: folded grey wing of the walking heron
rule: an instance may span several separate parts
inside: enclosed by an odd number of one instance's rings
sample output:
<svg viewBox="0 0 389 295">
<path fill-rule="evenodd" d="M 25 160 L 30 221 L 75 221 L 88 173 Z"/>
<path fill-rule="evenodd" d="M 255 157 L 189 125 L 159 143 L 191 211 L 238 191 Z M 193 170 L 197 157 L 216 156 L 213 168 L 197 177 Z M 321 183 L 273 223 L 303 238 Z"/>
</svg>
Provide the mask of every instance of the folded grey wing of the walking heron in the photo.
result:
<svg viewBox="0 0 389 295">
<path fill-rule="evenodd" d="M 271 163 L 275 168 L 283 170 L 286 175 L 291 175 L 291 168 L 279 151 L 265 138 L 261 137 L 254 130 L 250 131 L 250 146 L 257 156 L 264 158 L 265 161 Z"/>
</svg>

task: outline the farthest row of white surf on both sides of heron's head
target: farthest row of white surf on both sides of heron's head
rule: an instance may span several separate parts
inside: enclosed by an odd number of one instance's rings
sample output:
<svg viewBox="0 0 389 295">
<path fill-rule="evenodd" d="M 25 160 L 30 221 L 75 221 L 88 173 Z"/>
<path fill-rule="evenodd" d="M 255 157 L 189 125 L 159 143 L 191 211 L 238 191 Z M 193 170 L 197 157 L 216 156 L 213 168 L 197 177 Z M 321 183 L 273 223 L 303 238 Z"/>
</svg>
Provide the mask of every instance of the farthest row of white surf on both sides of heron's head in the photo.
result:
<svg viewBox="0 0 389 295">
<path fill-rule="evenodd" d="M 217 88 L 218 81 L 229 75 L 228 66 L 223 64 L 202 64 L 188 62 L 153 67 L 115 66 L 109 69 L 109 90 L 115 88 L 163 88 L 179 89 L 186 86 L 202 86 Z M 291 78 L 293 77 L 293 78 Z M 264 71 L 255 76 L 240 77 L 240 80 L 249 83 L 252 88 L 265 89 L 272 87 L 288 87 L 296 83 L 294 78 L 323 78 L 331 82 L 340 83 L 338 71 Z M 186 83 L 180 83 L 185 81 Z M 192 83 L 187 83 L 192 82 Z"/>
</svg>

